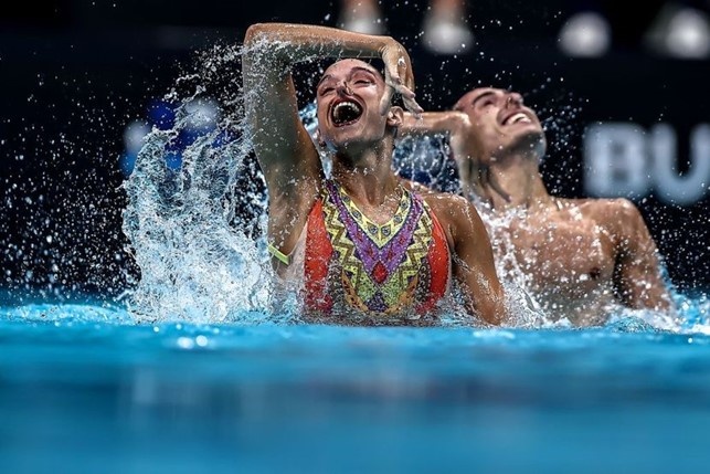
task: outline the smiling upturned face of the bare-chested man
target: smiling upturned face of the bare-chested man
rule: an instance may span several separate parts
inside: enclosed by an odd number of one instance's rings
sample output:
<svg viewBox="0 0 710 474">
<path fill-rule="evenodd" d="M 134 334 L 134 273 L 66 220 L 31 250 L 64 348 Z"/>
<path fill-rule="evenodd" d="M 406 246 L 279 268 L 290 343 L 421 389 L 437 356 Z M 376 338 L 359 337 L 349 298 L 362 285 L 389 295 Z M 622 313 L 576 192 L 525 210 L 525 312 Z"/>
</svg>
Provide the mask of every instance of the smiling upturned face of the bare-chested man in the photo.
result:
<svg viewBox="0 0 710 474">
<path fill-rule="evenodd" d="M 508 152 L 536 149 L 544 154 L 544 133 L 538 116 L 520 94 L 481 87 L 465 94 L 454 107 L 473 125 L 469 139 L 483 162 Z M 542 148 L 540 148 L 542 145 Z"/>
</svg>

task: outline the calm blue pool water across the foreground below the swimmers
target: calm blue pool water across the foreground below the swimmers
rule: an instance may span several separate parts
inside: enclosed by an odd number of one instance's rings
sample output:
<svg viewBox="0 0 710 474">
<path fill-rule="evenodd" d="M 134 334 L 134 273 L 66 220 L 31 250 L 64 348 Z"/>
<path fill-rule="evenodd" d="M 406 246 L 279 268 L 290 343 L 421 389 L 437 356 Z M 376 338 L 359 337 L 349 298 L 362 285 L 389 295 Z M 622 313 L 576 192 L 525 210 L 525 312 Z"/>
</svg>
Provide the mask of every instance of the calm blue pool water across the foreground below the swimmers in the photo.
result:
<svg viewBox="0 0 710 474">
<path fill-rule="evenodd" d="M 710 337 L 0 307 L 0 472 L 704 472 Z"/>
</svg>

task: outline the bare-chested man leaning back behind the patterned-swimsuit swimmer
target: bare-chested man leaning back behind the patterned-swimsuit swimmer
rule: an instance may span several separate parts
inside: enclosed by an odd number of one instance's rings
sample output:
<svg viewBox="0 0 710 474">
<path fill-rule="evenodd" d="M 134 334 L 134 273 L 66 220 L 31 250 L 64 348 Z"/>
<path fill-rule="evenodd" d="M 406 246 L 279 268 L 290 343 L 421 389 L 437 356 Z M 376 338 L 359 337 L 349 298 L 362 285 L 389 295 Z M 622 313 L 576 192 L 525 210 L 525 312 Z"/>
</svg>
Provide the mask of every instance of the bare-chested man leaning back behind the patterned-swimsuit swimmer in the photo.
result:
<svg viewBox="0 0 710 474">
<path fill-rule="evenodd" d="M 619 303 L 672 309 L 656 245 L 630 201 L 548 192 L 539 170 L 545 136 L 520 94 L 475 88 L 453 110 L 407 114 L 401 127 L 410 135 L 445 131 L 464 196 L 490 212 L 496 256 L 512 252 L 549 317 L 586 326 L 603 324 Z"/>
</svg>

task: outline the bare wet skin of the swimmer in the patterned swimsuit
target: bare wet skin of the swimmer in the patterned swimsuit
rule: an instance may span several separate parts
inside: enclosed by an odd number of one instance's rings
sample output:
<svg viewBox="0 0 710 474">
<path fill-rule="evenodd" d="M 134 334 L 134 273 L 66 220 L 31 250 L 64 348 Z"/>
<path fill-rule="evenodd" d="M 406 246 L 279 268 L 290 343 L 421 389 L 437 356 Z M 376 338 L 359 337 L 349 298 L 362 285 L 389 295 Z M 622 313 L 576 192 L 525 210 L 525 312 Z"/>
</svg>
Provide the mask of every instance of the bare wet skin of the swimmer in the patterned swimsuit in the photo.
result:
<svg viewBox="0 0 710 474">
<path fill-rule="evenodd" d="M 277 46 L 273 46 L 277 44 Z M 248 29 L 243 61 L 254 149 L 269 192 L 268 239 L 284 254 L 297 245 L 319 197 L 324 170 L 316 145 L 298 117 L 290 65 L 315 55 L 379 57 L 385 76 L 369 64 L 347 59 L 328 67 L 317 87 L 318 146 L 329 150 L 332 179 L 371 220 L 389 221 L 401 180 L 392 172 L 392 150 L 403 110 L 391 106 L 399 93 L 417 114 L 409 55 L 386 36 L 369 36 L 324 27 L 257 24 Z M 463 198 L 427 196 L 446 232 L 453 274 L 465 307 L 490 324 L 505 318 L 505 295 L 492 250 L 476 209 Z M 275 262 L 277 271 L 279 264 Z"/>
</svg>

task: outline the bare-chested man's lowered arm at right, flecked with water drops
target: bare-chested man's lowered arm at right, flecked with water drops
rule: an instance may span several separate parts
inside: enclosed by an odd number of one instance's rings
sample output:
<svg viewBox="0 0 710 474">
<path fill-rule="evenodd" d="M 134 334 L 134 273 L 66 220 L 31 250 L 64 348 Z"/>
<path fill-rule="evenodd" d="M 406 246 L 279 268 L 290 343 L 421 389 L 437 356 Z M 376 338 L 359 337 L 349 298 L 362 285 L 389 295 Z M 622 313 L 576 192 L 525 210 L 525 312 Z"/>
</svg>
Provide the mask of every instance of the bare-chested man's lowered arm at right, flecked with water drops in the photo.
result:
<svg viewBox="0 0 710 474">
<path fill-rule="evenodd" d="M 617 227 L 614 283 L 618 296 L 632 308 L 670 310 L 672 303 L 660 274 L 658 250 L 644 218 L 626 199 L 613 201 L 610 219 Z"/>
</svg>

